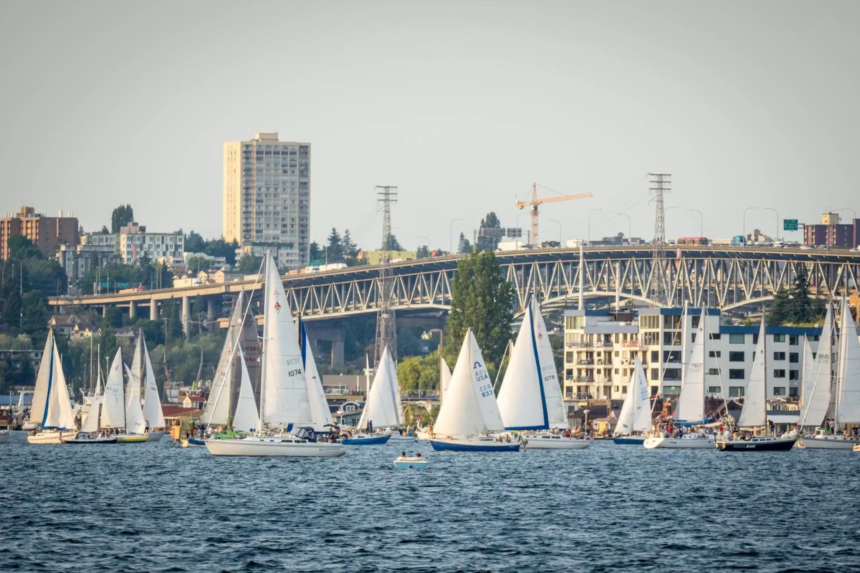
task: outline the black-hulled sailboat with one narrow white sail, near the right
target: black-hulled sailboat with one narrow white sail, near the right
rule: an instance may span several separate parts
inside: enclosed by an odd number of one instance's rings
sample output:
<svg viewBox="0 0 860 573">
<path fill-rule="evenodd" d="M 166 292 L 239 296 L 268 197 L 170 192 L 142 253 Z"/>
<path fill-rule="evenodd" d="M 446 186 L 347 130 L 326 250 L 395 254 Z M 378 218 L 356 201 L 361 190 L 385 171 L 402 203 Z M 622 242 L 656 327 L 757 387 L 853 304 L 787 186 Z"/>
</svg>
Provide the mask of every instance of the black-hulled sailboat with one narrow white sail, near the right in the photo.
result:
<svg viewBox="0 0 860 573">
<path fill-rule="evenodd" d="M 744 406 L 740 411 L 740 428 L 767 428 L 767 336 L 765 333 L 765 314 L 761 316 L 759 344 L 756 344 L 755 361 L 746 385 Z M 727 431 L 728 433 L 728 431 Z M 748 440 L 717 440 L 716 447 L 724 452 L 765 452 L 787 451 L 797 437 L 777 438 L 774 436 L 753 436 Z"/>
</svg>

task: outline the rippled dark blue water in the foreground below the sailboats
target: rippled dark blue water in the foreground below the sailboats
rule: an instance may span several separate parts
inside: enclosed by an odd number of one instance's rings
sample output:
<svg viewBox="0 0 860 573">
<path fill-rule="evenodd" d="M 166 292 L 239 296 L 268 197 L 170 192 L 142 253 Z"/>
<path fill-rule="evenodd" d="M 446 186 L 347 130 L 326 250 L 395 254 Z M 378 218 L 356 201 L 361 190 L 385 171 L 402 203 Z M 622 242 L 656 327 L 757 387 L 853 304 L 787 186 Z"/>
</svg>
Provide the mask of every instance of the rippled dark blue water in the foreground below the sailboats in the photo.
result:
<svg viewBox="0 0 860 573">
<path fill-rule="evenodd" d="M 0 571 L 860 571 L 860 454 L 0 445 Z"/>
</svg>

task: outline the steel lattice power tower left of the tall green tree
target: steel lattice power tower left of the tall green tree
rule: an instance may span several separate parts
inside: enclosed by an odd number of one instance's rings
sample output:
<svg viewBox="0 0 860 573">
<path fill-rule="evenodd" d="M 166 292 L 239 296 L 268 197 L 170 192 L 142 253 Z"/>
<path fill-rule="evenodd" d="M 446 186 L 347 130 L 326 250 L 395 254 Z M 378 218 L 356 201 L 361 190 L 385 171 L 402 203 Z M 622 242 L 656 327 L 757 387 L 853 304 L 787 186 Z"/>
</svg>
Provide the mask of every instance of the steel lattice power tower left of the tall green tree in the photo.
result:
<svg viewBox="0 0 860 573">
<path fill-rule="evenodd" d="M 373 364 L 379 368 L 382 351 L 388 352 L 397 363 L 397 332 L 391 294 L 394 279 L 391 276 L 391 204 L 397 202 L 397 187 L 377 186 L 379 204 L 382 204 L 382 256 L 379 259 L 379 290 L 377 299 L 377 336 L 374 343 Z"/>
</svg>

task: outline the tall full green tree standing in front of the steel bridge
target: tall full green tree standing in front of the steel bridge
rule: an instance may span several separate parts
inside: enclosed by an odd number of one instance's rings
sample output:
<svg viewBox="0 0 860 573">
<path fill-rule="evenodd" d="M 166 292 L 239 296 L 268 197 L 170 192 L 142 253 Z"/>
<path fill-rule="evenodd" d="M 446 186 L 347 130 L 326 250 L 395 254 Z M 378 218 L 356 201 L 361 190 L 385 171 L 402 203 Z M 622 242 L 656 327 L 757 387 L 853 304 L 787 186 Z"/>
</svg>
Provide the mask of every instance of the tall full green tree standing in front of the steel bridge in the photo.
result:
<svg viewBox="0 0 860 573">
<path fill-rule="evenodd" d="M 450 356 L 456 356 L 471 328 L 484 360 L 499 363 L 511 338 L 512 321 L 513 286 L 502 275 L 493 251 L 460 259 L 451 283 L 451 312 L 445 328 Z"/>
</svg>

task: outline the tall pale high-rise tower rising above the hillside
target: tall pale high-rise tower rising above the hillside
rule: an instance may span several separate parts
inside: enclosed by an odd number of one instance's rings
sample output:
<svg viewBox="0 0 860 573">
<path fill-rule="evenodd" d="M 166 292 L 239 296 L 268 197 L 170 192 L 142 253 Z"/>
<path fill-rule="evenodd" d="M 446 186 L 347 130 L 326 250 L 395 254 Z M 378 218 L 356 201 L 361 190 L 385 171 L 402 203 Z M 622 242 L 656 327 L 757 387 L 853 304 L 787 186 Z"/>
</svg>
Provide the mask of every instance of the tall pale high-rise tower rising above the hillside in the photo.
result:
<svg viewBox="0 0 860 573">
<path fill-rule="evenodd" d="M 242 247 L 276 247 L 279 261 L 289 261 L 282 270 L 308 264 L 310 143 L 277 133 L 224 143 L 223 235 Z"/>
</svg>

